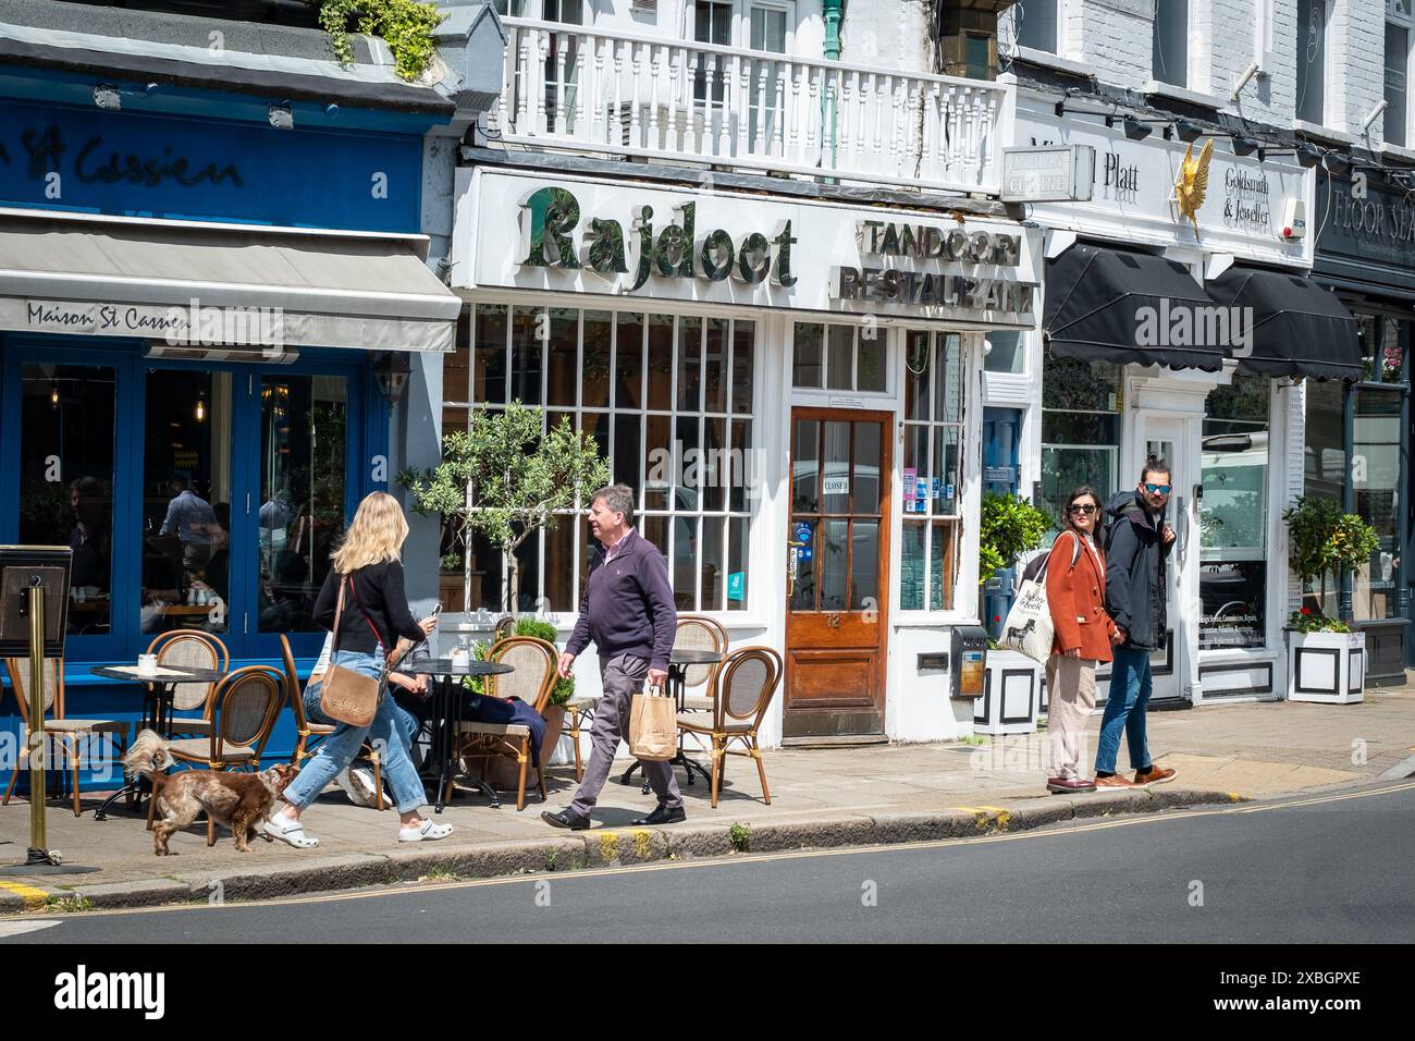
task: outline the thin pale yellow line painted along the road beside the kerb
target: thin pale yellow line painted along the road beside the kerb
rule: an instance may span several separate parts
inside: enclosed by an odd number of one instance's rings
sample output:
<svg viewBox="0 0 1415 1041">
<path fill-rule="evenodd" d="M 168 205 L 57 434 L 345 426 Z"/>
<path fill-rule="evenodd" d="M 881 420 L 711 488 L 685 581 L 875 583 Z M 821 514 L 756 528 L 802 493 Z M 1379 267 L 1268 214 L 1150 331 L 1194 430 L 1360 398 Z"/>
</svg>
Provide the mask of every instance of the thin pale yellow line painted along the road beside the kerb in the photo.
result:
<svg viewBox="0 0 1415 1041">
<path fill-rule="evenodd" d="M 1084 834 L 1084 833 L 1090 833 L 1090 831 L 1105 831 L 1105 830 L 1116 829 L 1116 827 L 1140 827 L 1140 826 L 1145 826 L 1145 824 L 1157 824 L 1157 823 L 1170 821 L 1170 820 L 1193 820 L 1193 819 L 1197 819 L 1197 817 L 1220 817 L 1220 816 L 1227 816 L 1227 814 L 1234 814 L 1234 813 L 1261 813 L 1264 810 L 1283 810 L 1283 809 L 1299 807 L 1299 806 L 1317 806 L 1317 804 L 1324 804 L 1324 803 L 1346 802 L 1346 800 L 1351 800 L 1351 799 L 1368 799 L 1371 796 L 1392 795 L 1395 792 L 1407 792 L 1407 790 L 1411 790 L 1411 789 L 1415 789 L 1415 782 L 1407 782 L 1407 783 L 1401 783 L 1401 785 L 1392 785 L 1390 787 L 1381 787 L 1381 789 L 1375 789 L 1375 790 L 1371 790 L 1371 792 L 1351 792 L 1351 793 L 1347 793 L 1347 795 L 1337 793 L 1337 795 L 1332 795 L 1332 796 L 1324 796 L 1324 797 L 1319 797 L 1319 799 L 1306 799 L 1306 800 L 1300 800 L 1300 802 L 1272 803 L 1269 806 L 1251 806 L 1251 807 L 1249 806 L 1245 806 L 1245 807 L 1227 806 L 1227 807 L 1217 807 L 1217 809 L 1196 809 L 1196 810 L 1184 810 L 1182 813 L 1174 813 L 1174 814 L 1169 814 L 1169 816 L 1166 816 L 1166 814 L 1157 814 L 1157 813 L 1143 813 L 1143 814 L 1128 816 L 1128 817 L 1116 819 L 1116 820 L 1098 820 L 1098 821 L 1091 823 L 1091 824 L 1078 824 L 1078 826 L 1074 826 L 1074 827 L 1054 829 L 1054 830 L 1050 830 L 1050 831 L 1012 831 L 1012 833 L 1005 833 L 1005 834 L 979 836 L 976 838 L 937 838 L 937 840 L 930 840 L 930 841 L 924 841 L 924 843 L 900 843 L 900 844 L 896 844 L 896 846 L 852 846 L 852 847 L 833 848 L 833 850 L 790 850 L 790 851 L 784 851 L 784 853 L 739 854 L 739 855 L 734 855 L 734 857 L 713 857 L 713 858 L 700 858 L 700 860 L 695 858 L 695 860 L 654 861 L 654 863 L 649 863 L 649 864 L 631 864 L 631 865 L 618 867 L 618 868 L 589 868 L 589 870 L 583 870 L 583 871 L 548 872 L 548 874 L 535 874 L 535 875 L 505 875 L 505 877 L 501 877 L 501 878 L 470 878 L 470 880 L 458 881 L 458 882 L 440 882 L 437 885 L 417 885 L 416 888 L 408 887 L 408 888 L 388 888 L 388 889 L 362 891 L 362 892 L 328 892 L 328 894 L 318 894 L 318 895 L 313 895 L 313 897 L 311 895 L 283 897 L 283 898 L 269 899 L 269 901 L 248 901 L 248 902 L 232 902 L 232 904 L 216 904 L 216 905 L 211 905 L 211 904 L 175 904 L 175 905 L 153 906 L 153 908 L 119 908 L 119 909 L 113 909 L 113 911 L 91 911 L 91 912 L 85 912 L 83 916 L 85 918 L 92 918 L 92 916 L 99 916 L 99 915 L 102 915 L 102 916 L 110 916 L 110 915 L 151 915 L 151 914 L 171 912 L 171 911 L 235 911 L 235 909 L 252 911 L 252 909 L 262 908 L 262 906 L 282 906 L 282 905 L 300 905 L 300 904 L 334 904 L 334 902 L 338 902 L 338 901 L 350 901 L 350 899 L 375 899 L 375 898 L 393 897 L 393 895 L 408 894 L 408 892 L 423 894 L 423 892 L 441 892 L 441 891 L 446 891 L 446 889 L 480 889 L 480 888 L 485 888 L 485 887 L 491 887 L 491 885 L 525 885 L 528 882 L 529 884 L 538 884 L 538 882 L 546 882 L 546 881 L 552 881 L 552 880 L 569 882 L 569 881 L 573 881 L 573 880 L 577 880 L 577 878 L 600 878 L 600 877 L 604 877 L 604 875 L 623 875 L 625 872 L 682 871 L 682 870 L 691 870 L 691 868 L 698 868 L 698 870 L 700 870 L 700 868 L 722 868 L 722 867 L 734 867 L 734 865 L 739 865 L 739 864 L 756 864 L 756 863 L 761 863 L 761 861 L 805 860 L 808 857 L 857 857 L 857 855 L 866 854 L 866 853 L 873 853 L 873 854 L 904 853 L 904 851 L 908 851 L 908 850 L 921 850 L 921 848 L 923 850 L 930 850 L 930 848 L 937 850 L 937 848 L 944 848 L 944 847 L 969 848 L 969 847 L 975 847 L 975 846 L 990 846 L 993 843 L 1017 843 L 1017 841 L 1033 840 L 1033 838 L 1061 838 L 1061 837 L 1074 836 L 1074 834 Z M 954 806 L 951 809 L 955 809 L 955 810 L 968 810 L 968 812 L 972 812 L 972 813 L 978 812 L 976 809 L 966 807 L 966 806 Z M 11 885 L 16 885 L 16 884 L 0 882 L 0 885 L 4 885 L 6 888 L 10 888 Z M 24 888 L 30 888 L 30 887 L 24 887 Z M 38 894 L 42 895 L 41 889 L 35 889 L 34 892 L 38 892 Z M 0 918 L 0 921 L 4 921 L 4 919 Z"/>
</svg>

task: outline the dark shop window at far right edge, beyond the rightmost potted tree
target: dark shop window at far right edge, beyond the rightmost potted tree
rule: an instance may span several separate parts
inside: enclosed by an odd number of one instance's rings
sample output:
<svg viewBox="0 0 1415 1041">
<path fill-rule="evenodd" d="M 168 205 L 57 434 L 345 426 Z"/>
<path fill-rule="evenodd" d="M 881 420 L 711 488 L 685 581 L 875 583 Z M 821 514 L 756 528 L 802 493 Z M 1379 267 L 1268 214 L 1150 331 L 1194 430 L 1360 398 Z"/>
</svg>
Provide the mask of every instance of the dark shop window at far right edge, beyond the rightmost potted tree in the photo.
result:
<svg viewBox="0 0 1415 1041">
<path fill-rule="evenodd" d="M 1351 490 L 1354 511 L 1375 528 L 1381 544 L 1351 576 L 1357 622 L 1401 613 L 1401 406 L 1404 391 L 1360 387 L 1354 401 Z"/>
</svg>

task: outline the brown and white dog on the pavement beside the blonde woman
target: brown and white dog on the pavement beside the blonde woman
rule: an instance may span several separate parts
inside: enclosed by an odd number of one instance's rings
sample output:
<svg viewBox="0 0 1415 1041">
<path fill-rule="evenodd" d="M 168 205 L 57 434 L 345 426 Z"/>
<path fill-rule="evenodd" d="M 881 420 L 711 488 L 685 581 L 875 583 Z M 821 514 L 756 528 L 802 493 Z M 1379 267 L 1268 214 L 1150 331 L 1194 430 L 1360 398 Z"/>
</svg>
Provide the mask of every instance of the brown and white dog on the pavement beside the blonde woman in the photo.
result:
<svg viewBox="0 0 1415 1041">
<path fill-rule="evenodd" d="M 225 773 L 221 770 L 184 770 L 161 773 L 175 762 L 167 741 L 153 731 L 143 731 L 123 756 L 127 772 L 153 782 L 153 799 L 163 819 L 153 823 L 153 851 L 166 857 L 173 831 L 188 827 L 198 813 L 225 824 L 236 837 L 236 851 L 249 853 L 250 836 L 270 819 L 276 800 L 284 792 L 297 766 L 279 763 L 260 773 Z M 265 836 L 269 843 L 270 837 Z M 212 843 L 208 841 L 208 846 Z"/>
</svg>

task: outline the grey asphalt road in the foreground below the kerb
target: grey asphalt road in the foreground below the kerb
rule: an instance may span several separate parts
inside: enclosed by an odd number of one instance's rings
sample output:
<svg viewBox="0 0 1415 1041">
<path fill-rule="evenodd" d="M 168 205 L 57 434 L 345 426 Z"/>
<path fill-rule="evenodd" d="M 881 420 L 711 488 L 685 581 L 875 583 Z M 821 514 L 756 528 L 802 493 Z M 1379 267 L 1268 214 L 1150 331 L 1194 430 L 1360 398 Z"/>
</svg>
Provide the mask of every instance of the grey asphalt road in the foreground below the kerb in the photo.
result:
<svg viewBox="0 0 1415 1041">
<path fill-rule="evenodd" d="M 1408 943 L 1412 865 L 1404 782 L 968 841 L 0 919 L 0 943 Z"/>
</svg>

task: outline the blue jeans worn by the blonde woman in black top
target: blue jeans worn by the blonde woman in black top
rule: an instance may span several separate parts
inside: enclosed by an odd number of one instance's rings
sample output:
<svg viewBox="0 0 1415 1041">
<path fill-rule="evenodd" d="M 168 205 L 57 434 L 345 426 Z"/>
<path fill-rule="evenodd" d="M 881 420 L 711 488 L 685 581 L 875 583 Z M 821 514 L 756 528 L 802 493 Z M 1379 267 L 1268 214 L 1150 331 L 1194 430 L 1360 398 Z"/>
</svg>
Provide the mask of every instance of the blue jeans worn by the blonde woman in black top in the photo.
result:
<svg viewBox="0 0 1415 1041">
<path fill-rule="evenodd" d="M 354 650 L 341 650 L 335 653 L 333 664 L 341 666 L 344 669 L 352 669 L 364 676 L 379 676 L 383 667 L 383 652 L 382 647 L 375 650 L 372 654 L 361 654 Z M 316 714 L 314 718 L 324 719 L 323 714 L 317 714 L 318 710 L 318 686 L 314 687 L 316 697 Z M 304 694 L 306 712 L 310 712 L 310 691 Z M 348 724 L 338 724 L 338 728 L 320 742 L 320 749 L 316 752 L 314 758 L 304 763 L 299 776 L 290 782 L 290 786 L 284 789 L 284 800 L 291 806 L 304 809 L 314 802 L 316 796 L 324 790 L 324 787 L 338 776 L 340 770 L 354 762 L 358 756 L 359 749 L 364 746 L 365 741 L 369 741 L 375 748 L 383 752 L 383 776 L 388 779 L 388 786 L 393 792 L 393 800 L 398 803 L 399 813 L 412 813 L 420 809 L 426 803 L 426 793 L 423 792 L 423 782 L 417 778 L 417 770 L 413 769 L 413 761 L 409 758 L 409 719 L 412 719 L 409 712 L 403 712 L 395 702 L 392 694 L 388 693 L 385 687 L 378 700 L 378 711 L 374 715 L 374 722 L 368 727 L 350 727 Z M 330 721 L 333 722 L 333 721 Z M 416 729 L 417 721 L 412 719 L 412 727 Z"/>
</svg>

